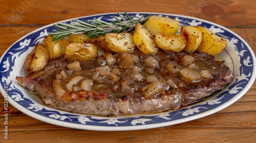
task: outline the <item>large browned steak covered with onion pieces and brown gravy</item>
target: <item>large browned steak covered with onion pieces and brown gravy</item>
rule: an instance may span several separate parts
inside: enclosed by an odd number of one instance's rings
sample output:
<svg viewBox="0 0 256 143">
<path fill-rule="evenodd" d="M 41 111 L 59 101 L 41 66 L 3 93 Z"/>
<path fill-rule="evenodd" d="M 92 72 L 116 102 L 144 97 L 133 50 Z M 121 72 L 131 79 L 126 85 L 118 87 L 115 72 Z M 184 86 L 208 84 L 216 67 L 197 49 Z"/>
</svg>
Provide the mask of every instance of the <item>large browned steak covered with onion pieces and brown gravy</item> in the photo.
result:
<svg viewBox="0 0 256 143">
<path fill-rule="evenodd" d="M 103 53 L 94 60 L 79 61 L 78 69 L 68 68 L 74 61 L 60 57 L 16 80 L 37 92 L 46 105 L 103 116 L 177 109 L 232 81 L 224 61 L 204 53 L 159 50 L 154 55 L 134 51 L 108 56 Z M 84 84 L 84 80 L 91 82 Z"/>
</svg>

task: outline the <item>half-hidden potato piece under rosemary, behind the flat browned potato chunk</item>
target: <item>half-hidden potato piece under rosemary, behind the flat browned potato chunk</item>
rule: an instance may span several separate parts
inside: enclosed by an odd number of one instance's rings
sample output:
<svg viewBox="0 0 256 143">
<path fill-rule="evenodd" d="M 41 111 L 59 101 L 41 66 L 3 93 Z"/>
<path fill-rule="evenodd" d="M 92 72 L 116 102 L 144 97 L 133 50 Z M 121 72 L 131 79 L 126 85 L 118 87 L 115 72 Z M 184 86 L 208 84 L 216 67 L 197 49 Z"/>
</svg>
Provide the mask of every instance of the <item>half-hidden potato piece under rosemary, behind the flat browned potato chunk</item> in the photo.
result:
<svg viewBox="0 0 256 143">
<path fill-rule="evenodd" d="M 87 34 L 70 34 L 69 35 L 69 41 L 71 43 L 85 43 L 85 42 L 90 42 L 90 43 L 95 43 L 97 38 L 89 38 Z"/>
</svg>

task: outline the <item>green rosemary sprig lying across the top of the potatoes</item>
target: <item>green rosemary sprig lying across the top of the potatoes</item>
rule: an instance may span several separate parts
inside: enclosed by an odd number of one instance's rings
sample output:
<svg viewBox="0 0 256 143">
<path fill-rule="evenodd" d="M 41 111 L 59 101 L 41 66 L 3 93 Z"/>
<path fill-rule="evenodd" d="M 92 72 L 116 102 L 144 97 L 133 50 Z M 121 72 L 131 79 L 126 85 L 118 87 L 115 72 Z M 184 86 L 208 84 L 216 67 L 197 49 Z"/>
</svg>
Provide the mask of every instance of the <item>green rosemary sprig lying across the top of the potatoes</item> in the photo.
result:
<svg viewBox="0 0 256 143">
<path fill-rule="evenodd" d="M 99 19 L 95 20 L 94 23 L 75 19 L 74 21 L 70 21 L 70 23 L 61 23 L 56 22 L 54 26 L 57 28 L 53 32 L 48 33 L 53 36 L 52 40 L 56 42 L 60 39 L 69 36 L 70 34 L 87 34 L 89 38 L 96 38 L 101 35 L 105 35 L 106 33 L 121 33 L 121 32 L 133 32 L 137 23 L 143 24 L 148 17 L 142 16 L 138 21 L 134 20 L 132 16 L 129 16 L 126 11 L 124 14 L 126 15 L 126 20 L 119 12 L 117 12 L 119 17 L 112 16 L 117 21 L 105 22 Z"/>
</svg>

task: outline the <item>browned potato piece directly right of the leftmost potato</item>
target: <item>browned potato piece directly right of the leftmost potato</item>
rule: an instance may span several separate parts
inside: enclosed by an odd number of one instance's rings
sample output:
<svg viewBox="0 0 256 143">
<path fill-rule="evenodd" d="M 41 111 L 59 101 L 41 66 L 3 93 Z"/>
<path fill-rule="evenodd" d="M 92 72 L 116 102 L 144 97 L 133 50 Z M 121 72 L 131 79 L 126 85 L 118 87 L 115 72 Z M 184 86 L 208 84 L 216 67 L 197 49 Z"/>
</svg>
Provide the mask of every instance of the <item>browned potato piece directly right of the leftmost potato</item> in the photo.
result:
<svg viewBox="0 0 256 143">
<path fill-rule="evenodd" d="M 54 60 L 61 55 L 59 43 L 52 40 L 52 36 L 48 35 L 43 41 L 42 45 L 46 47 L 49 53 L 49 60 Z"/>
</svg>

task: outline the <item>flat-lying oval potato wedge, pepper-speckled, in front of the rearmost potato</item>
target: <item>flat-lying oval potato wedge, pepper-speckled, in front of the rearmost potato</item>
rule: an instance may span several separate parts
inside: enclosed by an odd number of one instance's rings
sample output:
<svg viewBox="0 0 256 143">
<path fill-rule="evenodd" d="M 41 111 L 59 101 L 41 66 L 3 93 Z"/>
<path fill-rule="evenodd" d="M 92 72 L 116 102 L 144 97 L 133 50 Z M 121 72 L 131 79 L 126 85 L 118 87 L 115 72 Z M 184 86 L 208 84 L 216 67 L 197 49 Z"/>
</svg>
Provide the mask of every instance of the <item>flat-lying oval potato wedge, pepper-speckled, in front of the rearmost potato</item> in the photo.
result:
<svg viewBox="0 0 256 143">
<path fill-rule="evenodd" d="M 186 45 L 186 38 L 183 35 L 162 32 L 156 34 L 155 41 L 160 49 L 168 52 L 181 52 Z"/>
</svg>

